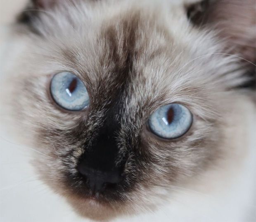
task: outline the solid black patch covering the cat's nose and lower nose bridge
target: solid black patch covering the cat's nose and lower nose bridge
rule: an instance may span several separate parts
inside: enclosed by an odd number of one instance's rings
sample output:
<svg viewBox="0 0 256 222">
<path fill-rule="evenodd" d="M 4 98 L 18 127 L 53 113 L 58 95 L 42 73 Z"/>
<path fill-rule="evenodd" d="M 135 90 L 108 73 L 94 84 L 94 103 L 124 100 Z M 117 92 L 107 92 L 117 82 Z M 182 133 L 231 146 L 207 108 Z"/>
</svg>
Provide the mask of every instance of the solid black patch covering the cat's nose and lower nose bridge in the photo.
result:
<svg viewBox="0 0 256 222">
<path fill-rule="evenodd" d="M 125 166 L 126 158 L 120 155 L 114 130 L 118 123 L 112 123 L 111 116 L 106 119 L 108 122 L 98 129 L 90 142 L 85 143 L 85 152 L 78 161 L 78 171 L 93 192 L 114 188 L 113 185 L 121 182 Z"/>
</svg>

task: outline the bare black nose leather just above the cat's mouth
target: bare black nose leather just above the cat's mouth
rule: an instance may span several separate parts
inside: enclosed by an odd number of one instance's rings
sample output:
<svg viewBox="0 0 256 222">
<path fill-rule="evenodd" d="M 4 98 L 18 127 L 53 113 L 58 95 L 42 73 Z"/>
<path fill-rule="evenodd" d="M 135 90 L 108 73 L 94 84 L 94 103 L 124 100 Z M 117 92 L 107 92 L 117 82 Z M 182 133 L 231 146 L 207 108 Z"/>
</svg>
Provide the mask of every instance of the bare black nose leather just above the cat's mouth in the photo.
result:
<svg viewBox="0 0 256 222">
<path fill-rule="evenodd" d="M 101 192 L 107 185 L 115 185 L 121 181 L 119 168 L 108 171 L 95 169 L 88 166 L 85 160 L 78 164 L 78 171 L 87 179 L 88 186 L 93 192 Z"/>
</svg>

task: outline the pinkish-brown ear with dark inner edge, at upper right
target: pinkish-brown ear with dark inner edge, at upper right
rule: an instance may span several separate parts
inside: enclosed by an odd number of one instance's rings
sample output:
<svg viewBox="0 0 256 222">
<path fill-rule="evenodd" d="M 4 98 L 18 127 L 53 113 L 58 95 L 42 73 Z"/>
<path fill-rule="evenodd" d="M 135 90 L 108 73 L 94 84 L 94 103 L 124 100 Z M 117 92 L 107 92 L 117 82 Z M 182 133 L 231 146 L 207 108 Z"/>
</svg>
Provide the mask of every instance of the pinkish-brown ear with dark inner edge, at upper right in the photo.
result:
<svg viewBox="0 0 256 222">
<path fill-rule="evenodd" d="M 195 25 L 215 29 L 232 53 L 256 62 L 256 4 L 254 0 L 204 0 L 188 7 Z"/>
</svg>

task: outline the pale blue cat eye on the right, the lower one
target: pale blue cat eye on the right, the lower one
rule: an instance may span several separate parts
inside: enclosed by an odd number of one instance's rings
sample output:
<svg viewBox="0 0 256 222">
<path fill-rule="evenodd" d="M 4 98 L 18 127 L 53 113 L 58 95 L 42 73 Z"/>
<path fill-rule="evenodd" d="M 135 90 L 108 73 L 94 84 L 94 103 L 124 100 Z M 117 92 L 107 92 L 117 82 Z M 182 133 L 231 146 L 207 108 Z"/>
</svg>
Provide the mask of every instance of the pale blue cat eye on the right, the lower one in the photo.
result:
<svg viewBox="0 0 256 222">
<path fill-rule="evenodd" d="M 163 139 L 183 136 L 192 125 L 192 113 L 185 106 L 171 103 L 161 106 L 149 117 L 150 130 Z"/>
</svg>

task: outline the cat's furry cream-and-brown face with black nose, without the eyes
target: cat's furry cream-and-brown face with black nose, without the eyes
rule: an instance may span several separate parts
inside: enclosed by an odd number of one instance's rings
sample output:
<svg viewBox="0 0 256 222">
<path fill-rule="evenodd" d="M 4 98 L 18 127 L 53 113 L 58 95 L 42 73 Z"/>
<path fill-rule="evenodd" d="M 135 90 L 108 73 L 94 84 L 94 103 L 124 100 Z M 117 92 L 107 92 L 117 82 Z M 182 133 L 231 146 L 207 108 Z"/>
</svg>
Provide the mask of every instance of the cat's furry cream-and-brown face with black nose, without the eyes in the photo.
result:
<svg viewBox="0 0 256 222">
<path fill-rule="evenodd" d="M 166 196 L 157 187 L 185 183 L 222 154 L 228 90 L 242 72 L 185 15 L 179 4 L 130 1 L 29 15 L 15 115 L 44 154 L 34 160 L 40 177 L 80 212 L 154 207 Z M 62 72 L 84 84 L 85 109 L 68 111 L 52 98 L 52 78 Z M 192 114 L 179 138 L 150 130 L 150 116 L 167 104 Z"/>
</svg>

